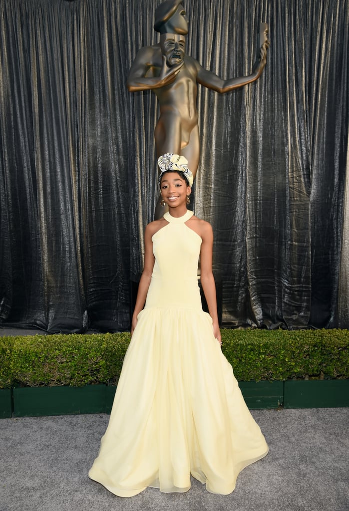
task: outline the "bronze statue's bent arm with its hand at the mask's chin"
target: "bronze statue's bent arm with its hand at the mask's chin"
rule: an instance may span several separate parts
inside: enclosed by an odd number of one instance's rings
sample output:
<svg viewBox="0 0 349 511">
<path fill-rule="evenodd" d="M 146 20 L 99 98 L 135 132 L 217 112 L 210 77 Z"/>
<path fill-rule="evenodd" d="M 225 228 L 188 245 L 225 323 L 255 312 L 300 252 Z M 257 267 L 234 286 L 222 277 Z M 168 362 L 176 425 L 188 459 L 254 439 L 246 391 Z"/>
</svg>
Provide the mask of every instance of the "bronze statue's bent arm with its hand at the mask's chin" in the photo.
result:
<svg viewBox="0 0 349 511">
<path fill-rule="evenodd" d="M 183 65 L 183 62 L 180 62 L 173 67 L 169 67 L 166 57 L 162 55 L 162 66 L 160 67 L 152 63 L 153 56 L 154 49 L 152 47 L 141 48 L 138 51 L 127 78 L 127 88 L 130 92 L 155 89 L 172 83 Z M 155 74 L 158 74 L 158 76 L 154 77 L 154 69 L 157 70 Z"/>
</svg>

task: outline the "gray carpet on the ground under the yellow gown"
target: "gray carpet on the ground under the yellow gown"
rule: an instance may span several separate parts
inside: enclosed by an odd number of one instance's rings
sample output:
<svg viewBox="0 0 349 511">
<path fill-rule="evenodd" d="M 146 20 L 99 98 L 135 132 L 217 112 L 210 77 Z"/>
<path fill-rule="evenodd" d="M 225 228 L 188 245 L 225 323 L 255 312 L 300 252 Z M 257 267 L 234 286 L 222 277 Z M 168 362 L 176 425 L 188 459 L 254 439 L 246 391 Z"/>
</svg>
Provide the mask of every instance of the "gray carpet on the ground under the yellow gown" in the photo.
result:
<svg viewBox="0 0 349 511">
<path fill-rule="evenodd" d="M 108 415 L 0 420 L 1 511 L 347 511 L 349 409 L 254 410 L 270 452 L 236 490 L 212 495 L 156 489 L 122 499 L 87 477 Z"/>
</svg>

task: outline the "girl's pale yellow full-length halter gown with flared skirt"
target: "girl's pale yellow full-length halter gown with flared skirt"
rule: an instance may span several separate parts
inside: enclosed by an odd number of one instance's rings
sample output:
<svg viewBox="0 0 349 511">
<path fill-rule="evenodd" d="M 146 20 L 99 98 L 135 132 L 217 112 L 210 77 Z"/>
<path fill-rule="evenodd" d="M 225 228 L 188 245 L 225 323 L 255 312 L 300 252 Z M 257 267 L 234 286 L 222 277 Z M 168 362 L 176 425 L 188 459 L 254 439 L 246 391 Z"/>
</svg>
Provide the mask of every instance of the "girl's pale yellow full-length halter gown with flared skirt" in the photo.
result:
<svg viewBox="0 0 349 511">
<path fill-rule="evenodd" d="M 202 311 L 197 281 L 201 238 L 181 218 L 153 236 L 155 265 L 146 306 L 89 477 L 131 497 L 158 487 L 186 492 L 190 475 L 229 494 L 239 472 L 268 452 L 231 365 Z"/>
</svg>

